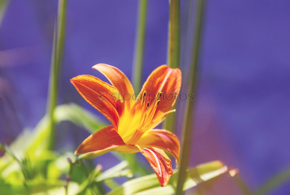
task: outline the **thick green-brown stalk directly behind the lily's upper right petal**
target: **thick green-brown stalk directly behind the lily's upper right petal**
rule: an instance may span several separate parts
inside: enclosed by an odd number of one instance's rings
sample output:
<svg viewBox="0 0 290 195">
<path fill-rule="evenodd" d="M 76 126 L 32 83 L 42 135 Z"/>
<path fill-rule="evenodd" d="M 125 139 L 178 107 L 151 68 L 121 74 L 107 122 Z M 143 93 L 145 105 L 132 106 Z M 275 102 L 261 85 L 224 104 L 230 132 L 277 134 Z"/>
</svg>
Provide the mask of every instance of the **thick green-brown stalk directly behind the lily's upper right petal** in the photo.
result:
<svg viewBox="0 0 290 195">
<path fill-rule="evenodd" d="M 180 62 L 180 0 L 169 1 L 169 24 L 167 43 L 167 65 L 171 68 L 179 68 Z M 174 109 L 174 108 L 172 108 Z M 173 132 L 175 113 L 166 117 L 164 128 Z"/>
</svg>

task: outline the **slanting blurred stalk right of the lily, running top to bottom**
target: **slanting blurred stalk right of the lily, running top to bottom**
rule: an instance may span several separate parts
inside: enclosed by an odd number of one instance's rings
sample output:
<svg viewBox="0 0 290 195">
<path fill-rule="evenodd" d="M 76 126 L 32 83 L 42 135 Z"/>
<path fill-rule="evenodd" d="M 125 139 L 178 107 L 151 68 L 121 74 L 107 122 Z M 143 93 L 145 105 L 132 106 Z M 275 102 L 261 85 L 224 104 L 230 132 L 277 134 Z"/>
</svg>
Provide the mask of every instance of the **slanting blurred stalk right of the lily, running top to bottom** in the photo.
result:
<svg viewBox="0 0 290 195">
<path fill-rule="evenodd" d="M 204 10 L 204 0 L 197 1 L 196 10 L 196 23 L 195 23 L 195 37 L 193 39 L 193 56 L 192 56 L 192 66 L 190 71 L 190 83 L 189 83 L 189 93 L 195 93 L 196 81 L 197 81 L 197 64 L 199 60 L 199 48 L 200 48 L 200 37 L 202 30 L 202 19 Z M 192 144 L 192 129 L 194 127 L 193 111 L 194 111 L 194 101 L 186 102 L 185 108 L 185 120 L 183 126 L 182 135 L 182 148 L 181 148 L 181 158 L 180 158 L 180 168 L 178 172 L 178 181 L 176 194 L 180 195 L 183 192 L 184 179 L 186 178 L 186 169 L 188 167 L 188 162 L 190 158 L 191 144 Z"/>
</svg>

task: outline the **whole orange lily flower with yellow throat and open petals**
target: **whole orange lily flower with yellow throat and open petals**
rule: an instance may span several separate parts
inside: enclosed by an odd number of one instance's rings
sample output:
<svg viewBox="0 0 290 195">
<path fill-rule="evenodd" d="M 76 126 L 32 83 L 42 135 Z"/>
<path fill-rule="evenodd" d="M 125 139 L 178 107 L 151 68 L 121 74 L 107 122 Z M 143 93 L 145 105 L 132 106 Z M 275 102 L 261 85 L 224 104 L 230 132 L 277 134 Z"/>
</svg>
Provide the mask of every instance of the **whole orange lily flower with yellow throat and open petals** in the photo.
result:
<svg viewBox="0 0 290 195">
<path fill-rule="evenodd" d="M 180 91 L 179 69 L 162 65 L 144 83 L 135 100 L 131 82 L 116 67 L 97 64 L 110 84 L 91 75 L 80 75 L 70 81 L 84 99 L 108 118 L 106 126 L 86 138 L 75 154 L 89 153 L 96 157 L 109 151 L 141 152 L 155 171 L 161 186 L 168 184 L 173 174 L 166 152 L 179 162 L 180 142 L 177 136 L 164 129 L 153 129 L 172 109 Z"/>
</svg>

